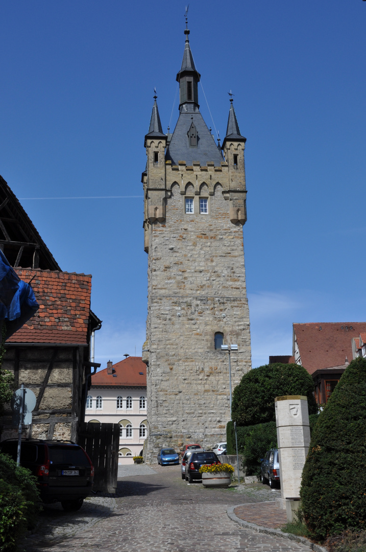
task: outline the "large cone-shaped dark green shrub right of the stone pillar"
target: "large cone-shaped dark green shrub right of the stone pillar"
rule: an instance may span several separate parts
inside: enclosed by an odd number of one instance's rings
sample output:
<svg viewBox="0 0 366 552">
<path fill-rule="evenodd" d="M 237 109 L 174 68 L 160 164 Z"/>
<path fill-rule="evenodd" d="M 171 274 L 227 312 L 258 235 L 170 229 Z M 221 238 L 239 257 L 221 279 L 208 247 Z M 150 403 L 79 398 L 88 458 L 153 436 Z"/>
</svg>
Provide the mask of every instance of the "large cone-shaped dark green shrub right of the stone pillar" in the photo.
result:
<svg viewBox="0 0 366 552">
<path fill-rule="evenodd" d="M 366 528 L 366 360 L 349 364 L 319 415 L 300 496 L 306 526 L 324 540 Z"/>
</svg>

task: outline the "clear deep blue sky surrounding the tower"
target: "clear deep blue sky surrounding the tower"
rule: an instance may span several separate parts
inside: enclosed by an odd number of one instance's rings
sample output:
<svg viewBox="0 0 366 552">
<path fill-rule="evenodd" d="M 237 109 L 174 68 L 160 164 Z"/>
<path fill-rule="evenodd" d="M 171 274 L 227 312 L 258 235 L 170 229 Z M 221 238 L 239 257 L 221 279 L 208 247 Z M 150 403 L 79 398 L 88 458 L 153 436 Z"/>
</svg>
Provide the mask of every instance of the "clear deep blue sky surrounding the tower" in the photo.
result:
<svg viewBox="0 0 366 552">
<path fill-rule="evenodd" d="M 157 87 L 176 123 L 185 4 L 2 0 L 0 174 L 63 270 L 93 274 L 96 361 L 141 354 L 143 147 Z M 225 135 L 246 136 L 252 362 L 291 354 L 292 322 L 366 320 L 366 2 L 190 2 L 190 44 Z M 213 122 L 209 114 L 211 111 Z"/>
</svg>

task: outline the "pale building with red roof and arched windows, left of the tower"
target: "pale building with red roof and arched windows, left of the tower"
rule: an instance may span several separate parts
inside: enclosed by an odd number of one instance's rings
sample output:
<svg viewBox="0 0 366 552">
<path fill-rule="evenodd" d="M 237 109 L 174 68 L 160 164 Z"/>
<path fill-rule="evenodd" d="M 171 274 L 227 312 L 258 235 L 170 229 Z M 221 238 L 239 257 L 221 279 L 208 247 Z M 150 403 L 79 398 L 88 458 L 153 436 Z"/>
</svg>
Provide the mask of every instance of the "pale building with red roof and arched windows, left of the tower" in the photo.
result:
<svg viewBox="0 0 366 552">
<path fill-rule="evenodd" d="M 133 464 L 142 455 L 148 424 L 146 413 L 146 364 L 141 357 L 127 357 L 92 376 L 85 408 L 85 422 L 119 423 L 119 464 Z"/>
</svg>

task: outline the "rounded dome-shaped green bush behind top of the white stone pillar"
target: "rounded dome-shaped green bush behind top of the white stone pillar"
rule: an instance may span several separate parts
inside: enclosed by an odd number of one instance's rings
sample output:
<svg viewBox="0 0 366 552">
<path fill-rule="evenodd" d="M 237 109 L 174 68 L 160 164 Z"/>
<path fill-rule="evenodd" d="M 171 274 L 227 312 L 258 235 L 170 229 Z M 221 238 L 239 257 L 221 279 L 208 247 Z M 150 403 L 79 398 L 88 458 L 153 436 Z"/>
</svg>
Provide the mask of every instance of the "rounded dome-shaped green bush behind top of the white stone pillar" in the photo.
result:
<svg viewBox="0 0 366 552">
<path fill-rule="evenodd" d="M 232 418 L 240 426 L 274 422 L 275 397 L 305 395 L 309 414 L 317 412 L 314 382 L 298 364 L 266 364 L 250 370 L 233 392 Z"/>
</svg>

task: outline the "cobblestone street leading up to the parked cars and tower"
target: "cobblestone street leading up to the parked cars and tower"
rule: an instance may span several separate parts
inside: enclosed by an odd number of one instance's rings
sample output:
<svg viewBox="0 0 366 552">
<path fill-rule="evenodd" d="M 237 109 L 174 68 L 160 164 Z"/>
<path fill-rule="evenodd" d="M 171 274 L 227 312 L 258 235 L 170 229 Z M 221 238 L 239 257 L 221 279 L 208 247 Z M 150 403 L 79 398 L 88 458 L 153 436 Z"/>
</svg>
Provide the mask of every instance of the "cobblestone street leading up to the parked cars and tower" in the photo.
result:
<svg viewBox="0 0 366 552">
<path fill-rule="evenodd" d="M 273 501 L 275 496 L 260 484 L 204 489 L 183 481 L 180 466 L 154 466 L 154 473 L 119 480 L 115 499 L 94 497 L 74 514 L 54 506 L 50 516 L 46 508 L 42 529 L 26 539 L 24 550 L 186 552 L 193 546 L 224 552 L 309 552 L 303 544 L 242 528 L 227 515 L 230 506 Z M 51 531 L 55 540 L 46 538 Z"/>
</svg>

